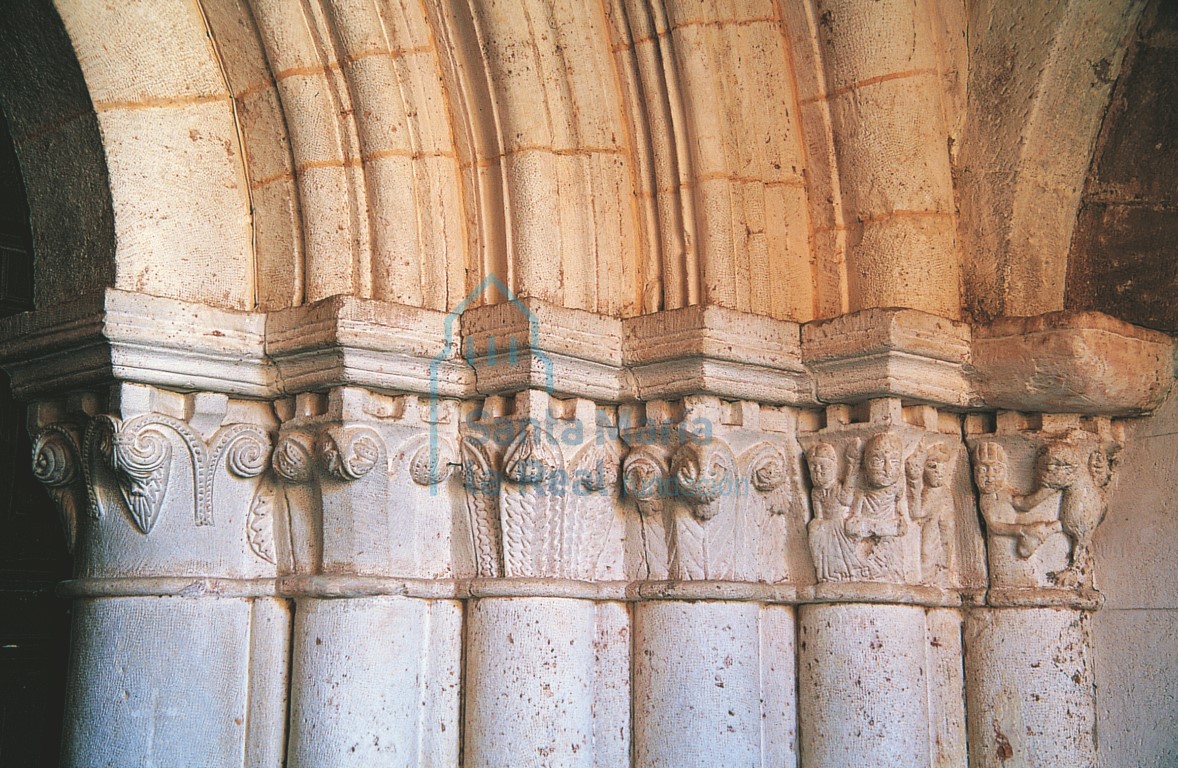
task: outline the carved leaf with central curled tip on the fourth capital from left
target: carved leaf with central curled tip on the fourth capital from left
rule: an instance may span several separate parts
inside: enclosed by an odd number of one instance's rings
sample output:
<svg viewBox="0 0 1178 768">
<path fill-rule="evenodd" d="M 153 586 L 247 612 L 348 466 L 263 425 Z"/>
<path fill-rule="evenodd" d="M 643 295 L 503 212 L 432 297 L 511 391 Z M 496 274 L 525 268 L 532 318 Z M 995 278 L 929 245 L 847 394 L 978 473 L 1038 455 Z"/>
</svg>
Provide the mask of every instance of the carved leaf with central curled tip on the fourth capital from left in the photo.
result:
<svg viewBox="0 0 1178 768">
<path fill-rule="evenodd" d="M 715 439 L 684 443 L 671 459 L 671 474 L 690 510 L 675 517 L 676 577 L 732 578 L 739 491 L 732 450 Z"/>
</svg>

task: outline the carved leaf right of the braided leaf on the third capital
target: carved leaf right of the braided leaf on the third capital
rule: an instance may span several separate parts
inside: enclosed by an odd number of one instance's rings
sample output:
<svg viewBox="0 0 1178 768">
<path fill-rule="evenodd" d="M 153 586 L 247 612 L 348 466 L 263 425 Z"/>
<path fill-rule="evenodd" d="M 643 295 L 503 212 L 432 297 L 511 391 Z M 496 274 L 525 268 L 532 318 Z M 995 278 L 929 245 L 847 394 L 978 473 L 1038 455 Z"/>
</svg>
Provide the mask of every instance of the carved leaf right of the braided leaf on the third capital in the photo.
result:
<svg viewBox="0 0 1178 768">
<path fill-rule="evenodd" d="M 604 443 L 587 445 L 573 459 L 565 505 L 565 547 L 574 578 L 594 578 L 614 522 L 618 458 Z"/>
</svg>

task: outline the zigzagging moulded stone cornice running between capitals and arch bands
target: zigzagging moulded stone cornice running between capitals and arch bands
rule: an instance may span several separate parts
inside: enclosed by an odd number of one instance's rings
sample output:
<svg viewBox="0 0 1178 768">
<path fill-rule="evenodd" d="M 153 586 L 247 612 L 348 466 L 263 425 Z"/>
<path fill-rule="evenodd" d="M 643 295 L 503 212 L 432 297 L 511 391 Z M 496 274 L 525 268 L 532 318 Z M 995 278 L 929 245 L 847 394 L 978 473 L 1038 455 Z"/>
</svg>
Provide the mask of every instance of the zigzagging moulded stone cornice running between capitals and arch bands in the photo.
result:
<svg viewBox="0 0 1178 768">
<path fill-rule="evenodd" d="M 969 326 L 879 309 L 799 325 L 716 306 L 620 319 L 524 298 L 459 316 L 332 297 L 265 313 L 112 289 L 0 322 L 0 364 L 21 398 L 134 382 L 251 398 L 339 385 L 446 398 L 549 389 L 611 403 L 899 397 L 1127 416 L 1164 397 L 1173 344 L 1097 312 Z"/>
</svg>

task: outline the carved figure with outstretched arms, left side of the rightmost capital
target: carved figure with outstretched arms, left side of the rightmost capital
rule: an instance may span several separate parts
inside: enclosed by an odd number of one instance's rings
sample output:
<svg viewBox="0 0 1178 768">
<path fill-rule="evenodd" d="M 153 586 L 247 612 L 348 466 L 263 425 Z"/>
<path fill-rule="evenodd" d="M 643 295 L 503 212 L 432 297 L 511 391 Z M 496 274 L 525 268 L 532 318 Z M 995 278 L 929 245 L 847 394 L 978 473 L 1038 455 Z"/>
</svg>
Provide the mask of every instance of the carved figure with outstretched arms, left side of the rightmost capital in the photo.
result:
<svg viewBox="0 0 1178 768">
<path fill-rule="evenodd" d="M 1027 560 L 1052 534 L 1059 532 L 1059 521 L 1019 521 L 1018 514 L 1026 512 L 1052 495 L 1055 485 L 1064 479 L 1061 468 L 1052 468 L 1040 457 L 1035 463 L 1038 488 L 1027 495 L 1014 492 L 1007 482 L 1006 451 L 998 443 L 981 443 L 974 449 L 973 479 L 978 485 L 978 505 L 991 536 L 1010 536 L 1018 539 L 1015 554 Z"/>
</svg>

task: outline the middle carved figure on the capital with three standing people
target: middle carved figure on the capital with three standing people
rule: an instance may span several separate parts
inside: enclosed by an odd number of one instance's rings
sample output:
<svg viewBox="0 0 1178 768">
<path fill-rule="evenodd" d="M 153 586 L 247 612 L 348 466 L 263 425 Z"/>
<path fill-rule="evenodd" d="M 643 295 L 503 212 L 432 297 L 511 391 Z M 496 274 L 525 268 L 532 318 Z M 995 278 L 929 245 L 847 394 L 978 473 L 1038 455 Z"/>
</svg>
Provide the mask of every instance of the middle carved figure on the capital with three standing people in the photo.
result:
<svg viewBox="0 0 1178 768">
<path fill-rule="evenodd" d="M 904 542 L 908 499 L 900 483 L 904 445 L 889 432 L 873 435 L 863 450 L 866 488 L 855 494 L 845 528 L 855 541 L 865 581 L 906 581 Z"/>
</svg>

